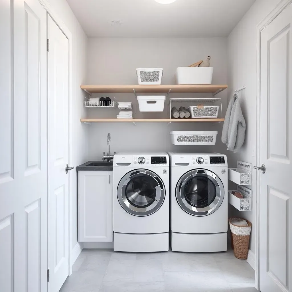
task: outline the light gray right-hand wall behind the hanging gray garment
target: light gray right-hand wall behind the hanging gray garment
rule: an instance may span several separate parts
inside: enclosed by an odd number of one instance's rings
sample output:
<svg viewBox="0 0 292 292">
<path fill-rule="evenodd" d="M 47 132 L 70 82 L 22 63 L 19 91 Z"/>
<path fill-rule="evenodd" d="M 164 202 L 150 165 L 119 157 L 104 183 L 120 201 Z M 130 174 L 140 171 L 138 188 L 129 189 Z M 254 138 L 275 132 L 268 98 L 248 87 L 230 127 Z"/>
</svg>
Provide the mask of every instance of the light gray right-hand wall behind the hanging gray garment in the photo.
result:
<svg viewBox="0 0 292 292">
<path fill-rule="evenodd" d="M 245 143 L 239 153 L 228 155 L 229 165 L 236 165 L 237 160 L 256 164 L 256 94 L 257 94 L 257 51 L 256 26 L 272 11 L 279 0 L 257 0 L 228 37 L 228 86 L 229 97 L 236 88 L 246 85 L 240 92 L 241 109 L 246 120 Z M 234 184 L 230 183 L 230 189 Z M 255 213 L 256 213 L 256 173 L 253 172 L 253 211 L 240 212 L 232 206 L 229 215 L 244 217 L 253 223 L 250 249 L 255 253 Z"/>
</svg>

